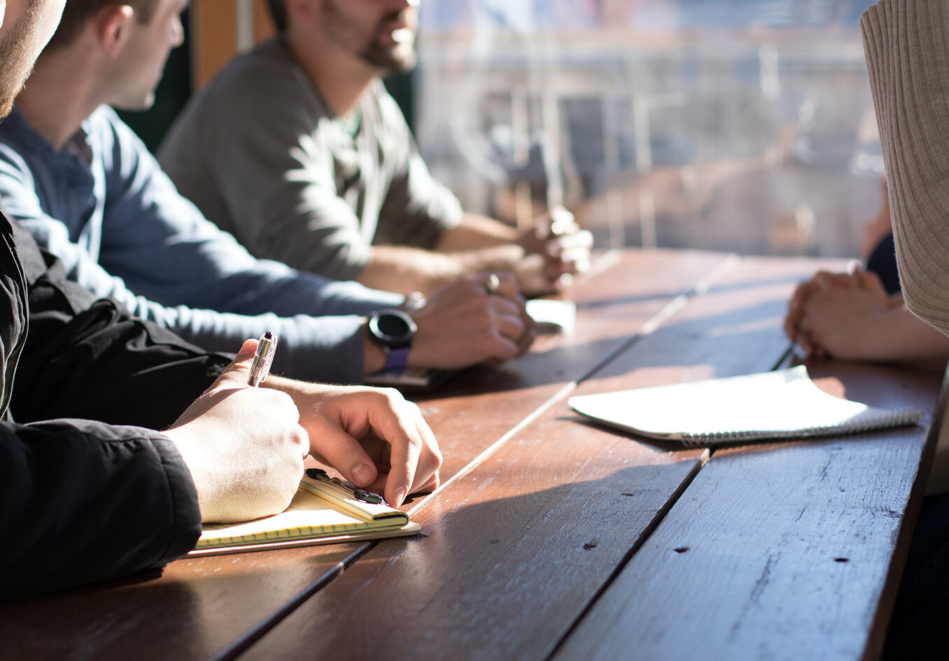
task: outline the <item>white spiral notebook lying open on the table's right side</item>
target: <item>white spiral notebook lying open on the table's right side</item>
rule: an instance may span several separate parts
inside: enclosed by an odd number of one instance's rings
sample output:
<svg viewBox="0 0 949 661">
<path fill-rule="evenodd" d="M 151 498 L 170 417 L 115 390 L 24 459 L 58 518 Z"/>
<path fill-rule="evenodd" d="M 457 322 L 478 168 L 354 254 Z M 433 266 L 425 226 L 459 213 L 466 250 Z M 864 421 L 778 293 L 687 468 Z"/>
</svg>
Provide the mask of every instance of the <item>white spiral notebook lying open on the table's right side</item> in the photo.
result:
<svg viewBox="0 0 949 661">
<path fill-rule="evenodd" d="M 570 397 L 577 413 L 689 445 L 831 436 L 918 422 L 917 408 L 881 409 L 828 395 L 803 365 L 601 395 Z"/>
</svg>

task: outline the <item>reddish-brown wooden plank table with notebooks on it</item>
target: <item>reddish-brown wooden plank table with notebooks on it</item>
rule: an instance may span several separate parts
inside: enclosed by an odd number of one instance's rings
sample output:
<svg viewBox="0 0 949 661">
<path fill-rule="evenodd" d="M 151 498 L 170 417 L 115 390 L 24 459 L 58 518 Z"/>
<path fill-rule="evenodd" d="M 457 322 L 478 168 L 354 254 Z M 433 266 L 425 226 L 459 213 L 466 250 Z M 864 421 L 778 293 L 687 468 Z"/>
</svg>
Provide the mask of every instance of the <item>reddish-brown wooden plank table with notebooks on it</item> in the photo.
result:
<svg viewBox="0 0 949 661">
<path fill-rule="evenodd" d="M 575 333 L 419 398 L 424 534 L 177 560 L 0 606 L 0 659 L 875 658 L 931 463 L 921 426 L 729 450 L 586 424 L 569 395 L 770 370 L 808 259 L 601 256 Z M 809 366 L 935 410 L 934 365 Z M 931 434 L 932 435 L 932 434 Z M 931 436 L 930 435 L 930 436 Z"/>
</svg>

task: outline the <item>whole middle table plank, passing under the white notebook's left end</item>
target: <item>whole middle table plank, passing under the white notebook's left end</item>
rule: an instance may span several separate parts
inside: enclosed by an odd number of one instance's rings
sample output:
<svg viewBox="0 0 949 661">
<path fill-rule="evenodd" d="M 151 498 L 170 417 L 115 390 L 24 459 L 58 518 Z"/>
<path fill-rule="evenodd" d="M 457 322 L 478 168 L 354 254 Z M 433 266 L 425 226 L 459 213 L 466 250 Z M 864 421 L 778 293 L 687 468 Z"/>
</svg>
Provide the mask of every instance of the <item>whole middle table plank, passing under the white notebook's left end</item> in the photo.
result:
<svg viewBox="0 0 949 661">
<path fill-rule="evenodd" d="M 770 369 L 813 265 L 769 264 L 722 270 L 576 392 Z M 427 539 L 381 544 L 241 658 L 547 658 L 703 461 L 579 424 L 567 395 L 417 512 Z M 373 604 L 370 631 L 353 602 Z"/>
</svg>

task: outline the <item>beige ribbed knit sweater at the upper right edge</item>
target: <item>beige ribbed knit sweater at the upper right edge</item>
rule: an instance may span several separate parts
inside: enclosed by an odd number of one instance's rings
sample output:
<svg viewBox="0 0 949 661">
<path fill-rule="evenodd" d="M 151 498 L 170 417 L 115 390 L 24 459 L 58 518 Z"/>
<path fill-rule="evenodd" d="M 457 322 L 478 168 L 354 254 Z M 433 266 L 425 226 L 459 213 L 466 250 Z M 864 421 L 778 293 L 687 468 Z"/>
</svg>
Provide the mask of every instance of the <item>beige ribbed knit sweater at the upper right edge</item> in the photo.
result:
<svg viewBox="0 0 949 661">
<path fill-rule="evenodd" d="M 949 335 L 949 0 L 881 0 L 860 27 L 903 297 Z"/>
</svg>

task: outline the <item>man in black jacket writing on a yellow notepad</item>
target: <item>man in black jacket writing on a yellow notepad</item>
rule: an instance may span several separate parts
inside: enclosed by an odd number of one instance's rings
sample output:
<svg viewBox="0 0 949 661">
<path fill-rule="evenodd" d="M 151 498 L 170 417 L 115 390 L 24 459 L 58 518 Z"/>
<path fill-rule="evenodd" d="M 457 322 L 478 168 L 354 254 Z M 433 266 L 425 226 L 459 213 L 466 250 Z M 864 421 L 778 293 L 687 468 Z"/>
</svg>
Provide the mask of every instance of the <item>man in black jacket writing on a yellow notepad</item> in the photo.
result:
<svg viewBox="0 0 949 661">
<path fill-rule="evenodd" d="M 3 113 L 64 6 L 0 0 Z M 158 567 L 202 522 L 279 512 L 310 452 L 395 504 L 437 487 L 418 407 L 279 377 L 251 387 L 255 347 L 228 364 L 96 299 L 0 213 L 0 600 Z"/>
</svg>

